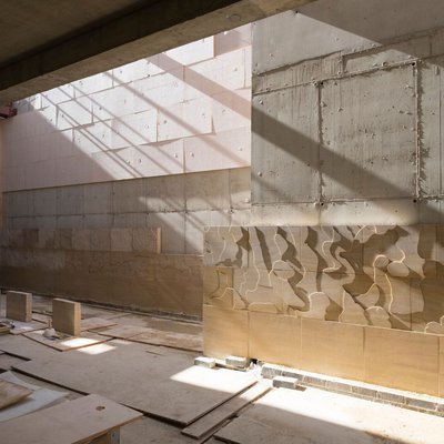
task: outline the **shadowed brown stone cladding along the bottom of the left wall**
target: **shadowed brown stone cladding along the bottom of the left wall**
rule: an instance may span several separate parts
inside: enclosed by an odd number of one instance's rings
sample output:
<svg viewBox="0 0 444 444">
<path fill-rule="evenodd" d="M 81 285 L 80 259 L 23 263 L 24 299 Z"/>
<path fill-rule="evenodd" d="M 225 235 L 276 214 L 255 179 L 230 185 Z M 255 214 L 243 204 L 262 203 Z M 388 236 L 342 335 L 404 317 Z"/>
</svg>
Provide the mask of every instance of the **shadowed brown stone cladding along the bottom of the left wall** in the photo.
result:
<svg viewBox="0 0 444 444">
<path fill-rule="evenodd" d="M 160 229 L 3 231 L 1 285 L 201 316 L 202 258 L 160 254 Z"/>
</svg>

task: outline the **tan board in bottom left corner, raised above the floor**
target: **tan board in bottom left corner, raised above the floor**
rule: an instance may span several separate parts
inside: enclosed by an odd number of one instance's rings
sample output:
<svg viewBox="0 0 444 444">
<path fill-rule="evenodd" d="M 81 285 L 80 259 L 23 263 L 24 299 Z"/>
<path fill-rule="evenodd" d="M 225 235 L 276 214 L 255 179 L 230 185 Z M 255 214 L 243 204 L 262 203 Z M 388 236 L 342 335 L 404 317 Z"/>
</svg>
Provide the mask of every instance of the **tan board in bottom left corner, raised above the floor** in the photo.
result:
<svg viewBox="0 0 444 444">
<path fill-rule="evenodd" d="M 102 396 L 90 395 L 0 424 L 6 443 L 87 443 L 142 414 Z"/>
</svg>

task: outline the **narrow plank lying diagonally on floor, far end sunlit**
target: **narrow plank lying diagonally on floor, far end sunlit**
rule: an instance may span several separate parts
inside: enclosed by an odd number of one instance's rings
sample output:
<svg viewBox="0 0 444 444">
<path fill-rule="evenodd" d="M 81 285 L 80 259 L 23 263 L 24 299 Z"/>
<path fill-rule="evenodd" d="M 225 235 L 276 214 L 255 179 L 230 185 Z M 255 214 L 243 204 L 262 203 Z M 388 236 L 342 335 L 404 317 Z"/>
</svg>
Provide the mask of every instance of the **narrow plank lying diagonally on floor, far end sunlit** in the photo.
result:
<svg viewBox="0 0 444 444">
<path fill-rule="evenodd" d="M 200 440 L 208 436 L 220 427 L 226 420 L 235 414 L 245 405 L 254 402 L 271 390 L 270 381 L 263 381 L 246 390 L 245 392 L 232 397 L 226 403 L 208 413 L 196 422 L 183 428 L 182 433 L 186 436 Z"/>
</svg>

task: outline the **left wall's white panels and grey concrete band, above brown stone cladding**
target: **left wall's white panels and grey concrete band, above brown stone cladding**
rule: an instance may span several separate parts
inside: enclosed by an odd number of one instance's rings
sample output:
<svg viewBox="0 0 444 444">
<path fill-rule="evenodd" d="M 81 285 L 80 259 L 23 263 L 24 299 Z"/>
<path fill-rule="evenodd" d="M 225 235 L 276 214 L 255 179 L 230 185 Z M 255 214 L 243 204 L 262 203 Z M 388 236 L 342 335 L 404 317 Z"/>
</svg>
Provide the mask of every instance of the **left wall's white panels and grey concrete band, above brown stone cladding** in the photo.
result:
<svg viewBox="0 0 444 444">
<path fill-rule="evenodd" d="M 250 206 L 251 27 L 17 102 L 1 122 L 8 229 L 162 229 L 202 253 L 202 226 Z"/>
</svg>

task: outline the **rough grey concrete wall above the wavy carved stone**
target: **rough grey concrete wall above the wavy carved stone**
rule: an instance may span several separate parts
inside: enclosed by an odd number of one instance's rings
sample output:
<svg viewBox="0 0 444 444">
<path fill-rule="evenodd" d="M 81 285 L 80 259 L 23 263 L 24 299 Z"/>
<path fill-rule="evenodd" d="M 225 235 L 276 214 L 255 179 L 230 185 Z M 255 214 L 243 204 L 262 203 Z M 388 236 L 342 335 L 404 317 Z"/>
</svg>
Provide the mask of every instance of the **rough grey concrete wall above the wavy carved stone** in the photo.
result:
<svg viewBox="0 0 444 444">
<path fill-rule="evenodd" d="M 253 26 L 252 224 L 442 221 L 440 1 L 326 1 Z"/>
</svg>

